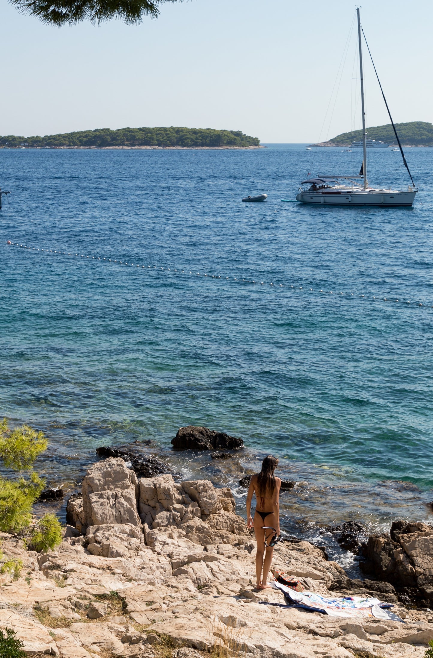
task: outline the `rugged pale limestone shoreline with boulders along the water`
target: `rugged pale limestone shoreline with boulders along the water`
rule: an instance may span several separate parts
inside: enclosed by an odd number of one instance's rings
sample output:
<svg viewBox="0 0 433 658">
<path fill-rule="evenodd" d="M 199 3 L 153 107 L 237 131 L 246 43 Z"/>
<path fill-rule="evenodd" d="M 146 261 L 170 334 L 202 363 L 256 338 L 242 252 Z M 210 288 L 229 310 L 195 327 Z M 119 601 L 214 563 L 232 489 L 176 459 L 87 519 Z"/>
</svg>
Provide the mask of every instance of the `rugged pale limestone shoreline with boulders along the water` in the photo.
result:
<svg viewBox="0 0 433 658">
<path fill-rule="evenodd" d="M 376 596 L 404 623 L 262 605 L 284 601 L 275 589 L 253 591 L 255 544 L 231 490 L 171 473 L 137 476 L 152 466 L 163 468 L 150 460 L 134 468 L 127 454 L 92 465 L 82 491 L 68 501 L 69 524 L 55 551 L 28 551 L 18 537 L 3 534 L 4 553 L 24 568 L 18 580 L 0 576 L 0 628 L 13 628 L 28 655 L 424 655 L 433 638 L 432 526 L 399 522 L 389 537 L 359 544 L 373 573 L 366 580 L 349 578 L 308 542 L 275 549 L 274 566 L 306 589 Z M 358 530 L 333 532 L 349 542 Z"/>
</svg>

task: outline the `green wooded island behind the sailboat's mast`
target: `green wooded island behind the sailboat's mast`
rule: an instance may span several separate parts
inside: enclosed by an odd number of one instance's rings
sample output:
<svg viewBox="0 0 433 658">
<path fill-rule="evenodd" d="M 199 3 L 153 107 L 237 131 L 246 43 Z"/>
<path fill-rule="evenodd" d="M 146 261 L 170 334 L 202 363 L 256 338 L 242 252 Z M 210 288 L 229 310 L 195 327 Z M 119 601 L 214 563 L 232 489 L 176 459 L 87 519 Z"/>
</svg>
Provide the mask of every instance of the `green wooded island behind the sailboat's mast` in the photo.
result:
<svg viewBox="0 0 433 658">
<path fill-rule="evenodd" d="M 402 145 L 433 146 L 433 125 L 431 123 L 426 121 L 411 121 L 405 124 L 395 124 L 395 128 Z M 367 139 L 388 141 L 390 144 L 397 143 L 391 124 L 367 128 L 367 132 Z M 357 139 L 362 139 L 362 130 L 343 132 L 341 135 L 330 139 L 330 141 L 341 146 L 349 146 Z"/>
</svg>

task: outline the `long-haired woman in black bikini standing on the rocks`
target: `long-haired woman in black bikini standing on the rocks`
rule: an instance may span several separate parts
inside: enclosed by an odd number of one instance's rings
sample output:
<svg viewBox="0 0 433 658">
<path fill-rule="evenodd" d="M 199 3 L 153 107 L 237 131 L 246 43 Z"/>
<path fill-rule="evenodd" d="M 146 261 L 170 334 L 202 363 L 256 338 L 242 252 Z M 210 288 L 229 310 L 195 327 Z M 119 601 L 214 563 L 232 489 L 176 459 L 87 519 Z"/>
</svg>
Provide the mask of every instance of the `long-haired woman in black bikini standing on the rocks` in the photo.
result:
<svg viewBox="0 0 433 658">
<path fill-rule="evenodd" d="M 275 532 L 279 535 L 279 488 L 281 480 L 275 478 L 274 470 L 277 468 L 278 460 L 272 455 L 265 457 L 262 463 L 262 470 L 258 475 L 253 475 L 248 488 L 248 495 L 246 496 L 246 515 L 248 517 L 248 528 L 254 528 L 257 542 L 256 554 L 256 576 L 258 590 L 265 590 L 268 585 L 268 573 L 272 563 L 272 556 L 274 555 L 274 547 L 270 546 L 270 542 L 275 536 Z M 252 494 L 256 494 L 256 510 L 254 513 L 254 520 L 251 517 L 251 501 Z M 264 529 L 263 526 L 271 526 Z M 266 538 L 266 551 L 265 551 L 265 538 Z M 264 562 L 263 562 L 264 556 Z M 263 569 L 263 577 L 262 577 Z"/>
</svg>

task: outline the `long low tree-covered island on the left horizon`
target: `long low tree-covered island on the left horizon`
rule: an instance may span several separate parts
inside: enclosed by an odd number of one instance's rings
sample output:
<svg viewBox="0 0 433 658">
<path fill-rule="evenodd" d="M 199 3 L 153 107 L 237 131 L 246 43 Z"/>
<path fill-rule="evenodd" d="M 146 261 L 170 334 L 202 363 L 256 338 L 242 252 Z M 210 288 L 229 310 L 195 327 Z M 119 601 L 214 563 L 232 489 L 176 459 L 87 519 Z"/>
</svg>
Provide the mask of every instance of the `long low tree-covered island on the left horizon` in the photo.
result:
<svg viewBox="0 0 433 658">
<path fill-rule="evenodd" d="M 259 146 L 260 139 L 243 134 L 241 130 L 213 130 L 212 128 L 97 128 L 67 132 L 61 135 L 0 137 L 0 146 L 26 147 L 113 147 L 113 146 Z"/>
</svg>

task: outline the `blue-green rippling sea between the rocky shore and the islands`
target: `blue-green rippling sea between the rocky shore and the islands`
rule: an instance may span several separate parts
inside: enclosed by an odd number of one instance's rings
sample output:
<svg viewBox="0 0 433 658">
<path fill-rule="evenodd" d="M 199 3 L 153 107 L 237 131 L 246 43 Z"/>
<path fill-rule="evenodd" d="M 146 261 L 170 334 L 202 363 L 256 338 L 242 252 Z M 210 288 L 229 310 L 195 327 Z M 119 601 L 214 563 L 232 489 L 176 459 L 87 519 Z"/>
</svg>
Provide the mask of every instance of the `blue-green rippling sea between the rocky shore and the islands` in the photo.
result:
<svg viewBox="0 0 433 658">
<path fill-rule="evenodd" d="M 360 149 L 0 149 L 1 413 L 47 436 L 47 486 L 133 445 L 245 514 L 239 480 L 271 453 L 296 483 L 284 531 L 349 569 L 329 526 L 432 522 L 433 149 L 406 155 L 413 207 L 366 209 L 295 202 Z M 398 152 L 368 156 L 370 182 L 407 188 Z M 245 448 L 173 451 L 190 424 Z"/>
</svg>

